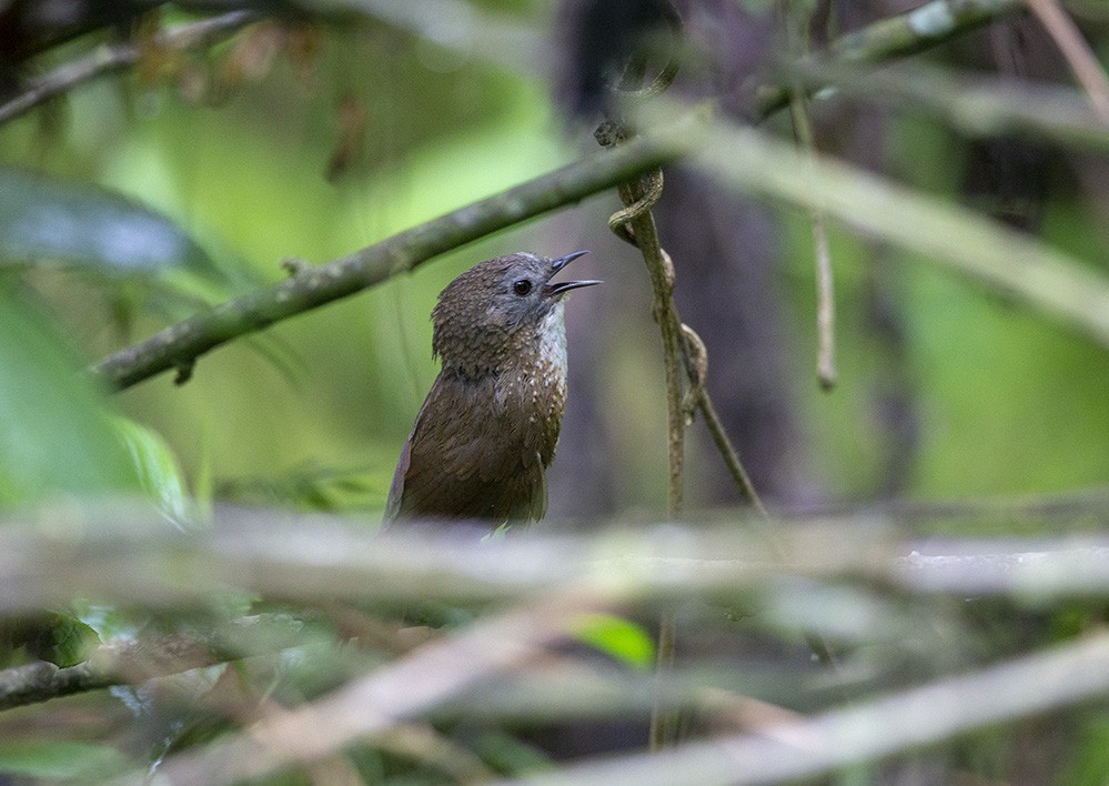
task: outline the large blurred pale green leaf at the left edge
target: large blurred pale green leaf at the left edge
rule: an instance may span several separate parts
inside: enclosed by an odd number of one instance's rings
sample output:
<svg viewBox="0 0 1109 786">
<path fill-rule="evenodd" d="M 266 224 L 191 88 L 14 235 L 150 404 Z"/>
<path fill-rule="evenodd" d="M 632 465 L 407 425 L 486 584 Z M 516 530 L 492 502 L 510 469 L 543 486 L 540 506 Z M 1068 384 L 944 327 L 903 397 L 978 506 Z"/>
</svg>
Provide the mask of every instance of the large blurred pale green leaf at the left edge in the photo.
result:
<svg viewBox="0 0 1109 786">
<path fill-rule="evenodd" d="M 0 292 L 0 506 L 141 487 L 81 367 L 41 316 Z"/>
</svg>

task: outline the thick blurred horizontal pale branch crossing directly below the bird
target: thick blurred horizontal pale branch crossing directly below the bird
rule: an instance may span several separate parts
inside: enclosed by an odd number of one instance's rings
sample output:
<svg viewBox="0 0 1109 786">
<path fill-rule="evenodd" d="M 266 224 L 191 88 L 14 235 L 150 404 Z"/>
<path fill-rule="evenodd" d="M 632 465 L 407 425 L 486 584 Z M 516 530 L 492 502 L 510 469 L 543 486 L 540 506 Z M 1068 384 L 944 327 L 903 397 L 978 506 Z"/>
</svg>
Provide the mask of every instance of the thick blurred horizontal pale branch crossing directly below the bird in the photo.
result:
<svg viewBox="0 0 1109 786">
<path fill-rule="evenodd" d="M 152 532 L 163 526 L 154 516 L 90 511 L 43 532 L 0 527 L 0 612 L 74 596 L 173 608 L 203 601 L 212 586 L 304 602 L 485 603 L 587 585 L 608 602 L 645 602 L 729 596 L 783 573 L 965 595 L 1081 596 L 1109 591 L 1109 540 L 1081 534 L 1106 515 L 1102 498 L 1073 535 L 945 540 L 937 552 L 936 538 L 914 538 L 876 514 L 799 525 L 760 520 L 750 530 L 735 521 L 637 523 L 588 535 L 546 526 L 481 543 L 464 526 L 377 536 L 325 516 L 275 521 L 244 511 L 219 512 L 214 532 L 183 536 Z"/>
</svg>

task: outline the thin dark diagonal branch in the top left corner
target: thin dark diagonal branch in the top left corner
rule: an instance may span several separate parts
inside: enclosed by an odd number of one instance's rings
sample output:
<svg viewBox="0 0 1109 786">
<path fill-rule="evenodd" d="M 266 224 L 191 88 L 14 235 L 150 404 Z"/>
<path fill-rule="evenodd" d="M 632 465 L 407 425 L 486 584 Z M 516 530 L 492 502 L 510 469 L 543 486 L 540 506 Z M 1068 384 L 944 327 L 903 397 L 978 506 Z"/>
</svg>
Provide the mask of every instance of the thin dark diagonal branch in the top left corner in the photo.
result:
<svg viewBox="0 0 1109 786">
<path fill-rule="evenodd" d="M 211 19 L 178 24 L 159 32 L 154 40 L 158 47 L 172 50 L 210 47 L 258 19 L 259 16 L 251 11 L 231 11 Z M 141 57 L 142 48 L 128 41 L 100 47 L 87 57 L 59 66 L 43 77 L 31 80 L 23 92 L 0 104 L 0 124 L 26 114 L 78 84 L 133 66 Z"/>
</svg>

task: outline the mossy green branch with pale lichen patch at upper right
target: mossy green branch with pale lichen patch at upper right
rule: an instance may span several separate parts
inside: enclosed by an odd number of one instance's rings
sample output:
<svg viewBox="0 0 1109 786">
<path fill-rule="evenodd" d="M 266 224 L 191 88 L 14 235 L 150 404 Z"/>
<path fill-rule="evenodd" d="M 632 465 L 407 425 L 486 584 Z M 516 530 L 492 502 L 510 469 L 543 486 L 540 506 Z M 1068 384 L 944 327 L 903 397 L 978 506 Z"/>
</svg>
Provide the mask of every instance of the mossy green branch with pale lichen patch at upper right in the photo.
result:
<svg viewBox="0 0 1109 786">
<path fill-rule="evenodd" d="M 886 62 L 923 52 L 1024 8 L 1025 0 L 931 0 L 847 33 L 833 41 L 826 53 L 804 58 L 801 62 L 806 69 Z M 759 88 L 755 117 L 765 119 L 786 107 L 789 93 L 789 85 Z"/>
</svg>

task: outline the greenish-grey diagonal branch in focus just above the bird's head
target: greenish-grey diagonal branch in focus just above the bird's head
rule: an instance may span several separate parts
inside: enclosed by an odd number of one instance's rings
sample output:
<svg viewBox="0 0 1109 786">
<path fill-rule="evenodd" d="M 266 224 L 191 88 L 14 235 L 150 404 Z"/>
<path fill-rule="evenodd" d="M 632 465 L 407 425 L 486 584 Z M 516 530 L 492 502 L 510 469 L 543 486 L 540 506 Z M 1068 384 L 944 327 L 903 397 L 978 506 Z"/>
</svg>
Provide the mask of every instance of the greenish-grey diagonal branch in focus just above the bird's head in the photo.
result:
<svg viewBox="0 0 1109 786">
<path fill-rule="evenodd" d="M 188 376 L 198 357 L 232 339 L 361 292 L 497 230 L 615 188 L 674 160 L 687 148 L 688 142 L 678 137 L 644 137 L 617 151 L 581 159 L 342 259 L 298 270 L 281 283 L 235 298 L 121 350 L 92 372 L 117 390 L 171 369 Z"/>
</svg>

